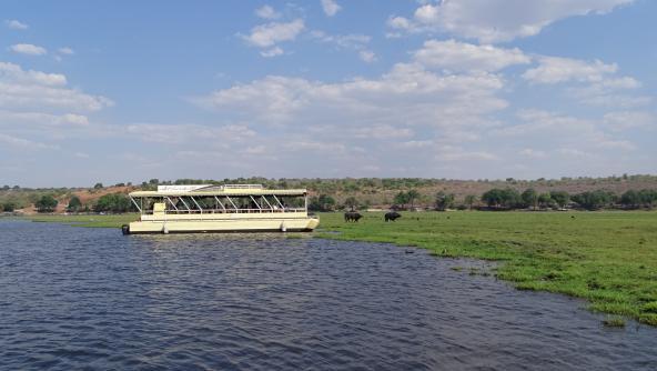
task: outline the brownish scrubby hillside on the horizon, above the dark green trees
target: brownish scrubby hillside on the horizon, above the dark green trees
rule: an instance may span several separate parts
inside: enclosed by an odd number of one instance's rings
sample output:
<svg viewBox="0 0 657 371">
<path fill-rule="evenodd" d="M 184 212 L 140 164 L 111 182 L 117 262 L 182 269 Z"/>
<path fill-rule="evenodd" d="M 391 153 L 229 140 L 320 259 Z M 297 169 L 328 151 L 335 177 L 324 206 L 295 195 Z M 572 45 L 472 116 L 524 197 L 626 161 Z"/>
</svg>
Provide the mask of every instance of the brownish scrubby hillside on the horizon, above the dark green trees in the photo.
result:
<svg viewBox="0 0 657 371">
<path fill-rule="evenodd" d="M 604 190 L 615 194 L 623 194 L 628 190 L 657 190 L 657 176 L 623 176 L 607 178 L 562 178 L 537 180 L 448 180 L 448 179 L 422 179 L 422 178 L 343 178 L 343 179 L 266 179 L 266 178 L 237 178 L 218 180 L 179 179 L 175 181 L 159 181 L 152 179 L 140 186 L 117 184 L 92 188 L 20 188 L 4 186 L 0 188 L 0 207 L 12 203 L 17 210 L 24 213 L 33 213 L 33 203 L 43 194 L 53 195 L 58 201 L 55 212 L 64 212 L 69 200 L 75 195 L 82 202 L 82 210 L 92 210 L 98 199 L 110 193 L 129 193 L 135 190 L 155 189 L 158 184 L 222 184 L 222 183 L 261 183 L 271 189 L 306 188 L 311 195 L 331 195 L 337 204 L 342 204 L 348 198 L 355 198 L 361 205 L 387 208 L 394 203 L 395 195 L 400 192 L 415 190 L 420 198 L 415 204 L 431 207 L 434 204 L 437 192 L 453 193 L 455 202 L 462 203 L 466 195 L 481 197 L 484 192 L 494 188 L 512 188 L 518 192 L 533 188 L 538 193 L 552 191 L 566 191 L 577 194 L 587 191 Z"/>
</svg>

